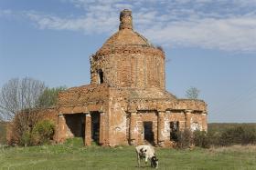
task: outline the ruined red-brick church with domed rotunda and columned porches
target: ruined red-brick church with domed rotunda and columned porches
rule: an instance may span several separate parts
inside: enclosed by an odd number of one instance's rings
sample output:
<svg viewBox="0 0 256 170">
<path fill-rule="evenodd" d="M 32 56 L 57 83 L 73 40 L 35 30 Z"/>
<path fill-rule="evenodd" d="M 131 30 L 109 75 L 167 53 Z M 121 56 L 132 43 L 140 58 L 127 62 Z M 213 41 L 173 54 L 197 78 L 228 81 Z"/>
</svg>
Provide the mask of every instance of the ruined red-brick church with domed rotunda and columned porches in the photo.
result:
<svg viewBox="0 0 256 170">
<path fill-rule="evenodd" d="M 121 12 L 119 31 L 90 59 L 91 85 L 61 92 L 48 111 L 57 142 L 172 146 L 178 130 L 207 131 L 206 103 L 165 90 L 165 53 L 133 31 L 131 11 Z"/>
</svg>

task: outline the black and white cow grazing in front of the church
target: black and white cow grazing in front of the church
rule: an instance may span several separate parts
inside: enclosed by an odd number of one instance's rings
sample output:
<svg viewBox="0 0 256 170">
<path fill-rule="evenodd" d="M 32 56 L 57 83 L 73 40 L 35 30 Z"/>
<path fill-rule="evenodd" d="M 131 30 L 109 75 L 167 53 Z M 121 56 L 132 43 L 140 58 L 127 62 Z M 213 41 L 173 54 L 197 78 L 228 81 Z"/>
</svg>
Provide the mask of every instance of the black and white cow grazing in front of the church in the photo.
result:
<svg viewBox="0 0 256 170">
<path fill-rule="evenodd" d="M 144 159 L 145 164 L 149 159 L 151 167 L 158 168 L 158 159 L 155 157 L 155 150 L 150 145 L 138 145 L 135 147 L 137 154 L 138 166 L 141 166 L 141 161 Z"/>
</svg>

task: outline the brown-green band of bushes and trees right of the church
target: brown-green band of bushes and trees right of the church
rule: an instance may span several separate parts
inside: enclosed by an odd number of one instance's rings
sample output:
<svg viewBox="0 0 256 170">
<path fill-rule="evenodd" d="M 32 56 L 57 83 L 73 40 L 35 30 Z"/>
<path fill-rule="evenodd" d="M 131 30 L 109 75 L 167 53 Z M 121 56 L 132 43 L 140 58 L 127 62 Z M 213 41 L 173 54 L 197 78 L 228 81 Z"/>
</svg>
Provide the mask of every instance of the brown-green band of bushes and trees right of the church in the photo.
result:
<svg viewBox="0 0 256 170">
<path fill-rule="evenodd" d="M 189 129 L 176 132 L 176 148 L 193 146 L 256 145 L 256 124 L 208 125 L 208 132 Z"/>
</svg>

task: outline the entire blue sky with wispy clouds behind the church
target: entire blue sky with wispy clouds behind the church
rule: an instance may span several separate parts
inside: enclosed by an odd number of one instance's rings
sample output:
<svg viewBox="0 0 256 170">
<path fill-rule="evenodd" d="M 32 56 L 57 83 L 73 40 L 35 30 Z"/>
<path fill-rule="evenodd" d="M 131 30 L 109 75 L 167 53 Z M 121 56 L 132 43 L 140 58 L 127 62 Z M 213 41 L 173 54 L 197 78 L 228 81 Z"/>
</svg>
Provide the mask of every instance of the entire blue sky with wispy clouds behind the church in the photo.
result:
<svg viewBox="0 0 256 170">
<path fill-rule="evenodd" d="M 0 0 L 0 86 L 25 76 L 90 84 L 90 55 L 124 8 L 164 47 L 168 91 L 200 89 L 209 122 L 256 122 L 256 0 Z"/>
</svg>

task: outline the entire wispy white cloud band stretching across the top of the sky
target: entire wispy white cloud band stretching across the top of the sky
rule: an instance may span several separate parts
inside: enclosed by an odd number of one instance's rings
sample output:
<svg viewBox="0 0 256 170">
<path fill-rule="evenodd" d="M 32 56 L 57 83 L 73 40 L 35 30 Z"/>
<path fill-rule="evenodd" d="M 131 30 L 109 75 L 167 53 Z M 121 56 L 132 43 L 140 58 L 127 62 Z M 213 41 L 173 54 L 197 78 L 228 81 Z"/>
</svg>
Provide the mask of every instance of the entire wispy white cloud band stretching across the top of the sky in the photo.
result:
<svg viewBox="0 0 256 170">
<path fill-rule="evenodd" d="M 256 0 L 62 0 L 85 15 L 23 12 L 40 29 L 111 34 L 119 12 L 133 10 L 135 29 L 160 45 L 256 52 Z M 9 14 L 10 11 L 0 12 Z"/>
</svg>

